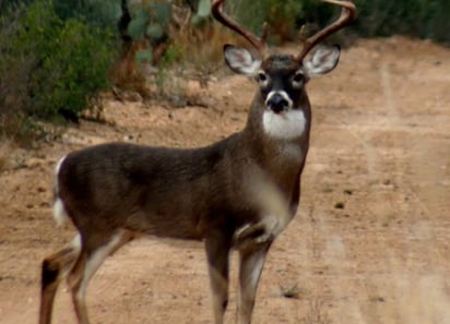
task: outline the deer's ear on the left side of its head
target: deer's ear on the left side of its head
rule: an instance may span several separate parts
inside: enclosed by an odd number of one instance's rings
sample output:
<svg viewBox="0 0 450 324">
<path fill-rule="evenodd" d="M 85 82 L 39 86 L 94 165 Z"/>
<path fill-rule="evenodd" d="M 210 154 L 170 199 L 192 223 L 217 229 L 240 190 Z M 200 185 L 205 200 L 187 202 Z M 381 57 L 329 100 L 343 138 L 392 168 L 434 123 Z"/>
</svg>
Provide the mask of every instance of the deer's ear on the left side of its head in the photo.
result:
<svg viewBox="0 0 450 324">
<path fill-rule="evenodd" d="M 261 60 L 253 58 L 242 47 L 227 44 L 224 46 L 224 56 L 228 68 L 239 74 L 254 76 L 261 68 Z"/>
</svg>

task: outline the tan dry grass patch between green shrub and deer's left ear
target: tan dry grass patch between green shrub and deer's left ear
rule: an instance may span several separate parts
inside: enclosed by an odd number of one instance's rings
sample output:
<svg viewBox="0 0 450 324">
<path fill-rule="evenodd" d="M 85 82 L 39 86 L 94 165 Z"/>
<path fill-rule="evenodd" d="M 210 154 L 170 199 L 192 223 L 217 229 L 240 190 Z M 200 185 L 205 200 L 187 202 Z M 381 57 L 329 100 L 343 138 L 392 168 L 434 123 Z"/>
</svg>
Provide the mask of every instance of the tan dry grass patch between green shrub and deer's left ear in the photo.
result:
<svg viewBox="0 0 450 324">
<path fill-rule="evenodd" d="M 120 98 L 134 93 L 142 99 L 182 107 L 189 101 L 186 98 L 188 81 L 208 87 L 211 75 L 224 67 L 223 46 L 228 43 L 247 46 L 241 37 L 218 24 L 171 28 L 170 41 L 162 47 L 164 53 L 158 53 L 156 61 L 138 67 L 137 53 L 150 48 L 145 41 L 133 41 L 112 67 L 110 76 L 116 89 L 121 89 Z M 152 50 L 153 56 L 157 50 Z"/>
</svg>

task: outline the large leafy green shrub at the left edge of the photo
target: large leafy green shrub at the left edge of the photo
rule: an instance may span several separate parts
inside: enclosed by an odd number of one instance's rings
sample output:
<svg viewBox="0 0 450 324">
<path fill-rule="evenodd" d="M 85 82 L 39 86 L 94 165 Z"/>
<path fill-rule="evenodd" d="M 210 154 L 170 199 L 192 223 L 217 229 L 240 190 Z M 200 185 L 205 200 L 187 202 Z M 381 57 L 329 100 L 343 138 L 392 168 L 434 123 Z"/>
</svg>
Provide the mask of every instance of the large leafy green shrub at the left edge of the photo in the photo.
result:
<svg viewBox="0 0 450 324">
<path fill-rule="evenodd" d="M 117 52 L 112 44 L 114 35 L 108 29 L 90 26 L 82 20 L 61 20 L 49 0 L 2 12 L 3 132 L 9 129 L 5 123 L 16 120 L 55 120 L 61 109 L 76 116 L 93 107 L 98 92 L 109 86 L 107 72 Z"/>
</svg>

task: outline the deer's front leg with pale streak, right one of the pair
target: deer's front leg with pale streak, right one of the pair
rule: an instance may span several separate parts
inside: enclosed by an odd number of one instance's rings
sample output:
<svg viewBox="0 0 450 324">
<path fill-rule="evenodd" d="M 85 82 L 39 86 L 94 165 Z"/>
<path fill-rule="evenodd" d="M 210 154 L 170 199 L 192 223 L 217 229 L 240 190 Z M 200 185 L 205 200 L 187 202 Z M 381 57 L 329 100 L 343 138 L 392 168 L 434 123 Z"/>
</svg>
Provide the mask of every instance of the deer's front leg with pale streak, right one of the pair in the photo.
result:
<svg viewBox="0 0 450 324">
<path fill-rule="evenodd" d="M 250 324 L 251 322 L 258 283 L 271 244 L 272 240 L 256 241 L 254 244 L 246 244 L 246 247 L 239 249 L 239 324 Z"/>
</svg>

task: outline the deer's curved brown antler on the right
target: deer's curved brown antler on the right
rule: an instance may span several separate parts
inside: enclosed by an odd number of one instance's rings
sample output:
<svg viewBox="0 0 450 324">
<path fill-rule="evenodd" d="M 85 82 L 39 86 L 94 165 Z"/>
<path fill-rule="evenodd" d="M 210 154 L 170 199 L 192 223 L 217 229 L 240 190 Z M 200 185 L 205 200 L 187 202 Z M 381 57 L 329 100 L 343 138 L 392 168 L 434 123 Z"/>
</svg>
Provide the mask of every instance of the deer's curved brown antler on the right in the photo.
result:
<svg viewBox="0 0 450 324">
<path fill-rule="evenodd" d="M 304 47 L 300 53 L 297 56 L 298 61 L 305 59 L 307 53 L 320 41 L 322 41 L 327 36 L 338 32 L 344 26 L 348 25 L 356 17 L 356 5 L 355 0 L 341 1 L 341 0 L 322 0 L 331 4 L 342 7 L 341 16 L 331 25 L 319 31 L 308 39 L 303 39 Z"/>
</svg>

